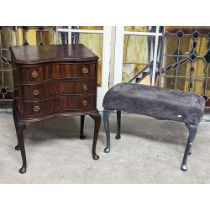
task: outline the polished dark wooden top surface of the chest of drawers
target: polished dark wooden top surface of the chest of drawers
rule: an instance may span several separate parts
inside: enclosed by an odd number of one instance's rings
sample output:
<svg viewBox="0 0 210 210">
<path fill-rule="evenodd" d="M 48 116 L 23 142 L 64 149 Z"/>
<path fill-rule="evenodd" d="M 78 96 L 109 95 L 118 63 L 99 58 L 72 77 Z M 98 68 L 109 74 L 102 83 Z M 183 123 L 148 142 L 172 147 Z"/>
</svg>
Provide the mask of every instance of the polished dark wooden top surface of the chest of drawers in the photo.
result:
<svg viewBox="0 0 210 210">
<path fill-rule="evenodd" d="M 98 56 L 82 44 L 11 47 L 15 63 L 39 64 L 47 62 L 97 61 Z"/>
</svg>

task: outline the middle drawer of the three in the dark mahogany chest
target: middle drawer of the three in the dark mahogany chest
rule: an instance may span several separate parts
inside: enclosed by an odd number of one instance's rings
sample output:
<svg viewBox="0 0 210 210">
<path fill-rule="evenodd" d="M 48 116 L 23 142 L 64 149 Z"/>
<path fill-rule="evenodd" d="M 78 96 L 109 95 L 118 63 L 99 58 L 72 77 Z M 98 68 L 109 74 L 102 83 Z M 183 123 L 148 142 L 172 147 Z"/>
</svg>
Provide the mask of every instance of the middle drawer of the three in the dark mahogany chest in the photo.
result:
<svg viewBox="0 0 210 210">
<path fill-rule="evenodd" d="M 95 79 L 71 81 L 57 79 L 46 83 L 21 85 L 23 99 L 48 98 L 61 94 L 89 94 L 95 93 Z"/>
</svg>

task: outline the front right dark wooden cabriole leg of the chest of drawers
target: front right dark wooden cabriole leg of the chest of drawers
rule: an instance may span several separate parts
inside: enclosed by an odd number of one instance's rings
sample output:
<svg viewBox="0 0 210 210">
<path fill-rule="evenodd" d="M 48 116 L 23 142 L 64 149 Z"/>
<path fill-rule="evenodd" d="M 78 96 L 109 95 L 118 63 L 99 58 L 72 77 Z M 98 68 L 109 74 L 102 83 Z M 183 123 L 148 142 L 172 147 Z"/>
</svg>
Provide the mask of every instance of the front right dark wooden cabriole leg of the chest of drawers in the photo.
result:
<svg viewBox="0 0 210 210">
<path fill-rule="evenodd" d="M 101 126 L 101 115 L 97 111 L 90 114 L 90 117 L 94 120 L 94 123 L 95 123 L 93 145 L 92 145 L 92 156 L 94 160 L 98 160 L 99 156 L 96 154 L 96 145 L 97 145 L 97 140 L 98 140 L 99 129 Z"/>
</svg>

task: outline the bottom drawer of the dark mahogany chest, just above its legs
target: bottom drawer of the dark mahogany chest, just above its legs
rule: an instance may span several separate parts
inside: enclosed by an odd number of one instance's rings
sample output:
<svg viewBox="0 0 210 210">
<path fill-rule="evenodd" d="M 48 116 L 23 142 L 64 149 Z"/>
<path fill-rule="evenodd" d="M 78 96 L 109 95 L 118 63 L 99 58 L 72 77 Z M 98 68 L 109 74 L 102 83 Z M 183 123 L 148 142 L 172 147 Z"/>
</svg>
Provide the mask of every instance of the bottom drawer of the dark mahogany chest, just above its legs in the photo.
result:
<svg viewBox="0 0 210 210">
<path fill-rule="evenodd" d="M 24 118 L 44 117 L 62 112 L 94 110 L 96 96 L 58 96 L 46 100 L 23 100 L 21 115 Z"/>
</svg>

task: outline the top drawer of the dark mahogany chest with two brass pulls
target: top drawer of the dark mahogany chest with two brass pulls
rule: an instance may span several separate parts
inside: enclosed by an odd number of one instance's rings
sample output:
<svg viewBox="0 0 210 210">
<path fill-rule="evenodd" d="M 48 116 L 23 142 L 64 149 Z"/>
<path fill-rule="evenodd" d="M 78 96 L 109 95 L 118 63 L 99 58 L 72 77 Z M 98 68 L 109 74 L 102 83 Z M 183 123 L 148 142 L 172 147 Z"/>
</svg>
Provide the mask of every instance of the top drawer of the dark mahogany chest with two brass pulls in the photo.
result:
<svg viewBox="0 0 210 210">
<path fill-rule="evenodd" d="M 95 78 L 96 65 L 93 64 L 42 64 L 20 67 L 21 82 L 39 82 L 58 78 Z"/>
</svg>

